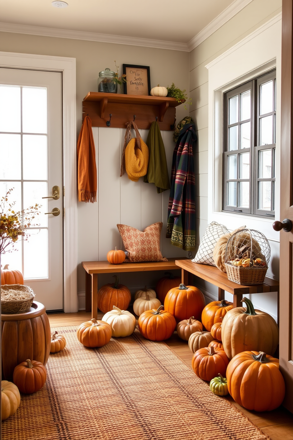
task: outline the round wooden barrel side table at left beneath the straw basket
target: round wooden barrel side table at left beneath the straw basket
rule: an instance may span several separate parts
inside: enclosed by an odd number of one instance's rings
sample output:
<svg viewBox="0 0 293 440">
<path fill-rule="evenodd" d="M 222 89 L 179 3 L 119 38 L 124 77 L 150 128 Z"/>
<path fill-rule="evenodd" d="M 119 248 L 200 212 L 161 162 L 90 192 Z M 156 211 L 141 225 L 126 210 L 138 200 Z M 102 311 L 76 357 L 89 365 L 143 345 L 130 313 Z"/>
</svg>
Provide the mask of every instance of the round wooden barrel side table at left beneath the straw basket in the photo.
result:
<svg viewBox="0 0 293 440">
<path fill-rule="evenodd" d="M 14 368 L 26 359 L 47 363 L 51 330 L 45 306 L 34 301 L 29 312 L 1 315 L 2 379 L 11 380 Z"/>
</svg>

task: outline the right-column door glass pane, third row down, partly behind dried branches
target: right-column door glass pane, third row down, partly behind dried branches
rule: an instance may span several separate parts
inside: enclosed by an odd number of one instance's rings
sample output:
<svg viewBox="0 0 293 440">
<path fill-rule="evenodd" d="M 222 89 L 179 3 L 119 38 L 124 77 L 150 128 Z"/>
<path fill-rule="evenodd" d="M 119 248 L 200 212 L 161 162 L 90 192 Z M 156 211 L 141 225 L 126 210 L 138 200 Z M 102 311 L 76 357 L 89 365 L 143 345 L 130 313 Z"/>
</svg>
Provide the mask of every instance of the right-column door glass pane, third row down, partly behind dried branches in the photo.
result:
<svg viewBox="0 0 293 440">
<path fill-rule="evenodd" d="M 47 195 L 47 182 L 23 182 L 23 205 L 25 208 L 34 206 L 36 203 L 39 205 L 39 215 L 36 215 L 32 221 L 32 226 L 38 225 L 41 227 L 47 227 L 48 212 L 47 198 L 43 198 Z"/>
</svg>

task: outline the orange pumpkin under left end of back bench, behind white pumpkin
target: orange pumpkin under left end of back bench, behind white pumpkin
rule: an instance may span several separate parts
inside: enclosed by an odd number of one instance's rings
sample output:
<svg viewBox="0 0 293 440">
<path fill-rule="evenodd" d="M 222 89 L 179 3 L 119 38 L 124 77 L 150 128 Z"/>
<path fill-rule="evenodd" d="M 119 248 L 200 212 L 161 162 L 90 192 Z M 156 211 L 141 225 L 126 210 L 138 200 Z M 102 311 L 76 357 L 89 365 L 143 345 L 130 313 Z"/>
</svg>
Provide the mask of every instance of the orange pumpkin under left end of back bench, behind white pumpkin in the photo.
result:
<svg viewBox="0 0 293 440">
<path fill-rule="evenodd" d="M 131 300 L 130 290 L 123 284 L 118 284 L 118 277 L 114 277 L 114 283 L 105 284 L 98 291 L 98 308 L 103 313 L 112 311 L 114 305 L 120 310 L 127 310 Z"/>
</svg>

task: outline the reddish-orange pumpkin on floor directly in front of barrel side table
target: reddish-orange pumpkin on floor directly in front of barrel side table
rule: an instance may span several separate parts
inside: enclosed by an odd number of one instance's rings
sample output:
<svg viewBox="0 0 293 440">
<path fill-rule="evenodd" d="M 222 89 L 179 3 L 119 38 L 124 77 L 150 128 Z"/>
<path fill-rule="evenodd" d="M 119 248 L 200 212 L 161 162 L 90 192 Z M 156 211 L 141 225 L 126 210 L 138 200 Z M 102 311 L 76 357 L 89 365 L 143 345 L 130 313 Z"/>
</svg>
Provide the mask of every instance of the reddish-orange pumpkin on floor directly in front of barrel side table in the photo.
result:
<svg viewBox="0 0 293 440">
<path fill-rule="evenodd" d="M 47 379 L 46 367 L 36 360 L 26 359 L 14 368 L 13 382 L 20 392 L 32 394 L 42 388 Z"/>
</svg>

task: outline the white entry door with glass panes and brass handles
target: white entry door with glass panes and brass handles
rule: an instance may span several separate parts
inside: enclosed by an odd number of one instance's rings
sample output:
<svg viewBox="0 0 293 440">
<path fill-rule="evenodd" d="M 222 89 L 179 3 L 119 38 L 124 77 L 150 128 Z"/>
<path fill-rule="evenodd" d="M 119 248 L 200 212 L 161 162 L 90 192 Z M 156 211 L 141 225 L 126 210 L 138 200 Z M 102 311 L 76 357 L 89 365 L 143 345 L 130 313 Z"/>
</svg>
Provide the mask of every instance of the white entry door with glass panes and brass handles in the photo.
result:
<svg viewBox="0 0 293 440">
<path fill-rule="evenodd" d="M 11 253 L 1 256 L 2 268 L 9 264 L 10 269 L 22 271 L 25 284 L 33 289 L 36 301 L 44 304 L 47 311 L 62 310 L 62 83 L 59 72 L 0 68 L 0 196 L 9 188 L 13 188 L 9 200 L 16 202 L 15 211 L 36 203 L 41 207 L 40 215 L 34 219 L 36 224 L 29 228 L 28 240 L 17 242 Z"/>
</svg>

